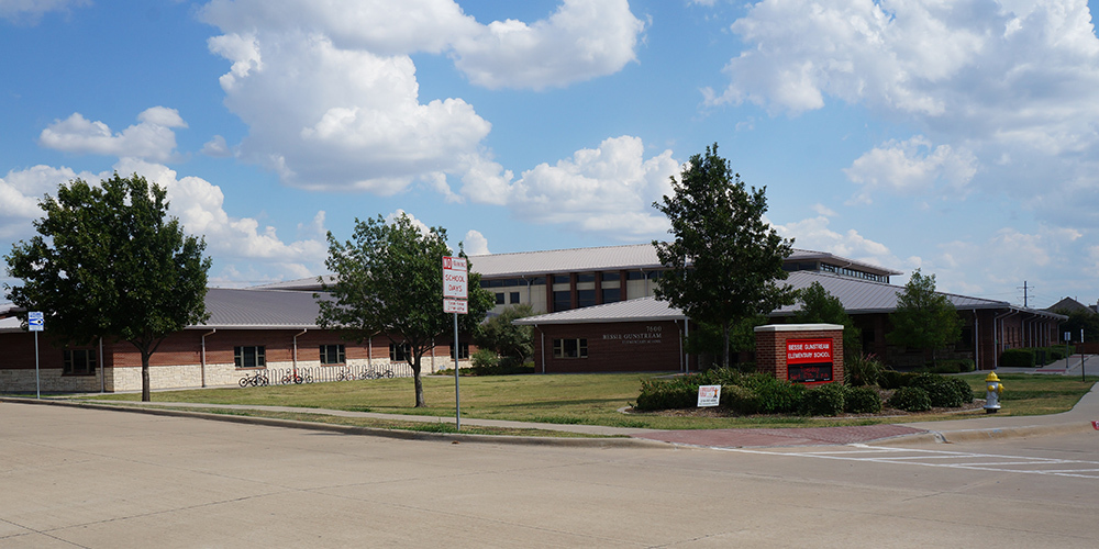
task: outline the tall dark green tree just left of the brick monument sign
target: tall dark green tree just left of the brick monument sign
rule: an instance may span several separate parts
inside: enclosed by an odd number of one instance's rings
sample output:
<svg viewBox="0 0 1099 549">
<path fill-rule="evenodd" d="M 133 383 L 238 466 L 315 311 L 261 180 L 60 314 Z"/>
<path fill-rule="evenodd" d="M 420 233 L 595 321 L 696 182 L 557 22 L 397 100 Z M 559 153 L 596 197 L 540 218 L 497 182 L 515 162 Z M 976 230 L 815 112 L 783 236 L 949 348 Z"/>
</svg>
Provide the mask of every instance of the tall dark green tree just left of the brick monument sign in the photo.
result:
<svg viewBox="0 0 1099 549">
<path fill-rule="evenodd" d="M 653 206 L 671 223 L 670 243 L 653 242 L 668 271 L 655 294 L 697 322 L 721 326 L 722 365 L 729 366 L 729 334 L 739 321 L 793 303 L 793 291 L 779 284 L 782 260 L 793 240 L 763 221 L 766 188 L 751 192 L 734 175 L 718 144 L 690 158 L 673 197 Z"/>
</svg>

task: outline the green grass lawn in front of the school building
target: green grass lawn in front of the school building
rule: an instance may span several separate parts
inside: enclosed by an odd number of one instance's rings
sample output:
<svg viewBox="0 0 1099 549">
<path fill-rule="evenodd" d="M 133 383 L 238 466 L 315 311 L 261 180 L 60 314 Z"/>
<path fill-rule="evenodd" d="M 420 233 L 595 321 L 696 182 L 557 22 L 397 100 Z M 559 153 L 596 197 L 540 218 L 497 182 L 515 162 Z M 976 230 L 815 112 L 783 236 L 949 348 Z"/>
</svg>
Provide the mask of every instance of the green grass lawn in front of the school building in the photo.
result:
<svg viewBox="0 0 1099 549">
<path fill-rule="evenodd" d="M 511 419 L 555 424 L 608 425 L 656 429 L 710 429 L 734 427 L 822 427 L 879 423 L 956 419 L 956 414 L 920 414 L 902 418 L 798 417 L 623 414 L 619 408 L 636 400 L 641 381 L 653 374 L 524 374 L 462 378 L 462 417 Z M 977 397 L 985 396 L 985 374 L 964 376 Z M 1065 376 L 1004 374 L 1000 415 L 1042 415 L 1073 407 L 1099 378 L 1087 382 Z M 153 393 L 158 402 L 254 404 L 318 407 L 389 414 L 454 417 L 454 378 L 425 377 L 429 406 L 415 408 L 412 380 L 382 379 L 226 388 Z M 138 401 L 138 394 L 108 394 L 97 400 Z M 970 412 L 984 415 L 984 411 Z M 465 429 L 463 429 L 465 430 Z"/>
</svg>

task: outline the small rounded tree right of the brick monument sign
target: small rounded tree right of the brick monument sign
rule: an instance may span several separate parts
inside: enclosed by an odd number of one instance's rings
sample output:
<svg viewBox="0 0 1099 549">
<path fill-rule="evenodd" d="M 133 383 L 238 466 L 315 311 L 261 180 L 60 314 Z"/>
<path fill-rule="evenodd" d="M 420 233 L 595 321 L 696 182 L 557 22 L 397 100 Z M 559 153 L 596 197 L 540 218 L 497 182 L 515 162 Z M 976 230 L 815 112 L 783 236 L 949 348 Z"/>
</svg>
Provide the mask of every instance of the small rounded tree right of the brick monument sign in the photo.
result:
<svg viewBox="0 0 1099 549">
<path fill-rule="evenodd" d="M 897 294 L 897 311 L 889 320 L 893 329 L 886 335 L 886 340 L 924 352 L 930 350 L 933 363 L 937 361 L 937 349 L 962 337 L 962 318 L 954 304 L 935 292 L 935 276 L 923 276 L 920 269 L 912 273 L 904 291 Z"/>
</svg>

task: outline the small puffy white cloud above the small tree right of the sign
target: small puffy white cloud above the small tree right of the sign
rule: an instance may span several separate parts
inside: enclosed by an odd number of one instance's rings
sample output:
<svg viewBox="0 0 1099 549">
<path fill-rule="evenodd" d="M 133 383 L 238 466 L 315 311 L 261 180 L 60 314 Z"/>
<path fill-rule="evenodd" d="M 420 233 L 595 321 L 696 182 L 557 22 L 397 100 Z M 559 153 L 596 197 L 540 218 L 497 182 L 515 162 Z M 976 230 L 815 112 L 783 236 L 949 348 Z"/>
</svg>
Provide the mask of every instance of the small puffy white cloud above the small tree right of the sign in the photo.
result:
<svg viewBox="0 0 1099 549">
<path fill-rule="evenodd" d="M 977 173 L 977 158 L 968 150 L 955 150 L 950 145 L 932 148 L 926 138 L 915 136 L 874 148 L 843 171 L 848 179 L 863 186 L 855 202 L 872 202 L 872 191 L 880 189 L 911 195 L 944 187 L 955 197 L 964 197 L 966 184 Z"/>
</svg>

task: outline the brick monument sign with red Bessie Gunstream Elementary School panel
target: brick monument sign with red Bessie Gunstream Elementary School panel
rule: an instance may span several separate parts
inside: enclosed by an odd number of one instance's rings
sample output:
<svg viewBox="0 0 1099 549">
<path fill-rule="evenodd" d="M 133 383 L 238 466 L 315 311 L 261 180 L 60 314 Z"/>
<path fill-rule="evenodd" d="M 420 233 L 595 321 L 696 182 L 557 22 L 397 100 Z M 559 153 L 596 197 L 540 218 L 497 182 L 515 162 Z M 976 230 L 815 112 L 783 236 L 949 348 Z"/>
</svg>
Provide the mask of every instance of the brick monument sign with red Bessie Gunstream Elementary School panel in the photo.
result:
<svg viewBox="0 0 1099 549">
<path fill-rule="evenodd" d="M 843 326 L 758 326 L 756 369 L 795 383 L 843 383 Z"/>
</svg>

